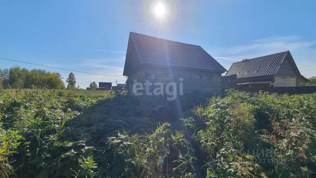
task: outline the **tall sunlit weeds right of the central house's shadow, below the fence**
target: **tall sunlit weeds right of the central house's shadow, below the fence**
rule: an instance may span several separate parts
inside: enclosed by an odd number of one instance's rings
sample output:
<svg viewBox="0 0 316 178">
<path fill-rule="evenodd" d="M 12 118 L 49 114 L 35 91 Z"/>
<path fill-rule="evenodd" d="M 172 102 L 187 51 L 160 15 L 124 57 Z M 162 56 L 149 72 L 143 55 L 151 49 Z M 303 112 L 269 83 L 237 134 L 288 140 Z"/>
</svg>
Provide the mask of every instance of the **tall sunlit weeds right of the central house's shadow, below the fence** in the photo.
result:
<svg viewBox="0 0 316 178">
<path fill-rule="evenodd" d="M 315 99 L 316 94 L 228 91 L 197 107 L 206 129 L 192 137 L 206 153 L 207 176 L 315 176 Z"/>
</svg>

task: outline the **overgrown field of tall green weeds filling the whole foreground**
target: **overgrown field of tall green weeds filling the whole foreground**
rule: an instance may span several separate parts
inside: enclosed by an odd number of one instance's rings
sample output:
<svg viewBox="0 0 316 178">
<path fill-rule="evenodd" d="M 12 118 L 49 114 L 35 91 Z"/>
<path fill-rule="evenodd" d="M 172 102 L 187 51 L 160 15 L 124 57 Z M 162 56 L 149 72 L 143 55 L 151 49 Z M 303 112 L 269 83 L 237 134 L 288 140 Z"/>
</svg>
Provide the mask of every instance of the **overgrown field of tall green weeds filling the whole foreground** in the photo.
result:
<svg viewBox="0 0 316 178">
<path fill-rule="evenodd" d="M 176 101 L 0 90 L 0 177 L 316 176 L 316 94 Z"/>
</svg>

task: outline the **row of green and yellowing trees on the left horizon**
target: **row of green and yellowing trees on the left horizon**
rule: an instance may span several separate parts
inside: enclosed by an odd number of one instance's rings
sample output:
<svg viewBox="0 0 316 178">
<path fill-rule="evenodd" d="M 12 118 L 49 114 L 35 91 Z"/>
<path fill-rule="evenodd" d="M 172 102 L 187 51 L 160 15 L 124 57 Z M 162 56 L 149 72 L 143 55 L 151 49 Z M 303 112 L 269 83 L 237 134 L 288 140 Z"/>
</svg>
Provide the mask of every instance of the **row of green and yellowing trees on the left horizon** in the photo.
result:
<svg viewBox="0 0 316 178">
<path fill-rule="evenodd" d="M 41 69 L 28 70 L 19 66 L 0 68 L 0 89 L 82 89 L 79 85 L 76 87 L 76 77 L 72 72 L 69 73 L 66 82 L 67 87 L 65 87 L 63 77 L 58 72 L 48 72 Z M 97 84 L 92 82 L 86 90 L 95 90 L 97 88 Z"/>
</svg>

